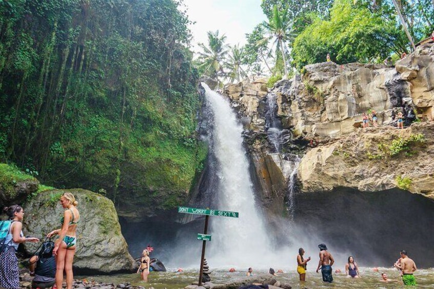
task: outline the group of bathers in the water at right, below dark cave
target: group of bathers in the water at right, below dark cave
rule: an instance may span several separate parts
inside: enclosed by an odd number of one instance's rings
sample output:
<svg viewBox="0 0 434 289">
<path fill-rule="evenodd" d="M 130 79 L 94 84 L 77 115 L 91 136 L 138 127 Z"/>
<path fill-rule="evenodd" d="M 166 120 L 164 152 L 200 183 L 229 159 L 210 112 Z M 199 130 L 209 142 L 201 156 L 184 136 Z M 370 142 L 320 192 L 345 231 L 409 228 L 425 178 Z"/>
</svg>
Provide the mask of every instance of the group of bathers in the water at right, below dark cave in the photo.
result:
<svg viewBox="0 0 434 289">
<path fill-rule="evenodd" d="M 327 246 L 325 244 L 319 244 L 318 248 L 320 249 L 320 261 L 318 262 L 317 273 L 321 269 L 323 281 L 331 283 L 333 282 L 331 267 L 334 263 L 333 256 L 327 251 Z M 297 272 L 300 275 L 300 281 L 306 280 L 306 266 L 307 262 L 311 260 L 310 257 L 304 259 L 304 253 L 304 249 L 300 248 L 299 254 L 297 255 Z M 407 252 L 404 250 L 400 252 L 400 255 L 401 258 L 393 264 L 394 268 L 397 268 L 400 271 L 404 285 L 416 285 L 416 279 L 413 275 L 413 272 L 417 270 L 415 261 L 410 259 Z M 335 271 L 335 273 L 340 272 L 340 270 Z M 348 278 L 361 278 L 359 266 L 353 256 L 348 257 L 348 263 L 345 264 L 345 273 Z M 382 282 L 392 281 L 387 277 L 386 273 L 382 273 L 381 278 L 380 281 Z"/>
</svg>

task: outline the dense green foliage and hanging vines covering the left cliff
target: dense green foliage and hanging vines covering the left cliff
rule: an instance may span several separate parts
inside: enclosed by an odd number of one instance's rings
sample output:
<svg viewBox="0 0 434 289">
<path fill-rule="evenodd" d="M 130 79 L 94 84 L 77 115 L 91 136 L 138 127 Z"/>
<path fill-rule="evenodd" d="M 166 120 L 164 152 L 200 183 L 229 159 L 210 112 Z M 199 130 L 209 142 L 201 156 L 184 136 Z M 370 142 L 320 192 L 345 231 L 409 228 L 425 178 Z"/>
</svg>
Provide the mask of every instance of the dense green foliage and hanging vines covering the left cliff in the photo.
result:
<svg viewBox="0 0 434 289">
<path fill-rule="evenodd" d="M 118 207 L 184 198 L 206 149 L 179 5 L 0 1 L 0 161 Z"/>
</svg>

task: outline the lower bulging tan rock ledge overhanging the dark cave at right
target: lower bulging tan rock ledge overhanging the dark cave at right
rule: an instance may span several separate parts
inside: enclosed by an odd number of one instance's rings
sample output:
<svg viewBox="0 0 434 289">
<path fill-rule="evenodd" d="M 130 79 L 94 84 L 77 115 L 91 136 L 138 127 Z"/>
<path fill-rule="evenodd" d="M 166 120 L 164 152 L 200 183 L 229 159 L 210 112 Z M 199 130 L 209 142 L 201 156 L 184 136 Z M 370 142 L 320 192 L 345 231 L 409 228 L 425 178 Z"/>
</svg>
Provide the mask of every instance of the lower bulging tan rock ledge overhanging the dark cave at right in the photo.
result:
<svg viewBox="0 0 434 289">
<path fill-rule="evenodd" d="M 393 140 L 423 134 L 425 141 L 412 142 L 391 155 Z M 406 129 L 366 128 L 315 147 L 303 157 L 298 175 L 304 191 L 328 191 L 337 187 L 380 191 L 400 187 L 434 199 L 434 123 L 412 124 Z"/>
</svg>

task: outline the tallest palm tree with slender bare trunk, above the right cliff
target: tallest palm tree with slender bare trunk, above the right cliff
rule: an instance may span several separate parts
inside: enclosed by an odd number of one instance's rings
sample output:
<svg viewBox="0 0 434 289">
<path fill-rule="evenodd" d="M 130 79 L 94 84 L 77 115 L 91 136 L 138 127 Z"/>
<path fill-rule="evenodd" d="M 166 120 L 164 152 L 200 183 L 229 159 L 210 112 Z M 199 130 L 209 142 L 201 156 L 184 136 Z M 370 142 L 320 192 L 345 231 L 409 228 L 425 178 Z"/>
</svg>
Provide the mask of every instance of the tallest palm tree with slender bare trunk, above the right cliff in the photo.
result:
<svg viewBox="0 0 434 289">
<path fill-rule="evenodd" d="M 273 17 L 268 22 L 262 23 L 267 32 L 267 37 L 260 41 L 269 41 L 274 39 L 271 49 L 276 45 L 276 56 L 279 52 L 282 54 L 283 67 L 285 69 L 285 78 L 288 78 L 288 69 L 286 63 L 286 41 L 293 40 L 292 21 L 288 18 L 287 10 L 279 12 L 277 6 L 273 7 Z M 259 41 L 259 42 L 260 42 Z M 276 57 L 277 58 L 277 57 Z"/>
</svg>

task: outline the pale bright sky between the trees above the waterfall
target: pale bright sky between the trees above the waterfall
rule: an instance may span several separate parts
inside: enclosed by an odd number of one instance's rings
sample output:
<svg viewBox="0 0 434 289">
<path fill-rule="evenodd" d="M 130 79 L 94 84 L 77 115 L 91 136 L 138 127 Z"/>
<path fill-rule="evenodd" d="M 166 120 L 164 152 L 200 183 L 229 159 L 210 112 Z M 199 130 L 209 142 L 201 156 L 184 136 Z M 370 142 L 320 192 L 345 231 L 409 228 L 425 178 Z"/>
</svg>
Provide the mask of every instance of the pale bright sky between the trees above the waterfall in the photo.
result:
<svg viewBox="0 0 434 289">
<path fill-rule="evenodd" d="M 219 30 L 226 35 L 226 43 L 233 46 L 246 43 L 246 33 L 266 16 L 261 9 L 261 0 L 184 0 L 187 15 L 195 24 L 190 26 L 193 35 L 192 50 L 197 52 L 198 42 L 208 43 L 207 31 Z"/>
</svg>

